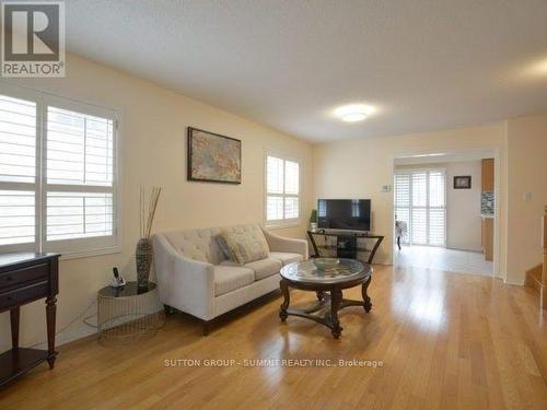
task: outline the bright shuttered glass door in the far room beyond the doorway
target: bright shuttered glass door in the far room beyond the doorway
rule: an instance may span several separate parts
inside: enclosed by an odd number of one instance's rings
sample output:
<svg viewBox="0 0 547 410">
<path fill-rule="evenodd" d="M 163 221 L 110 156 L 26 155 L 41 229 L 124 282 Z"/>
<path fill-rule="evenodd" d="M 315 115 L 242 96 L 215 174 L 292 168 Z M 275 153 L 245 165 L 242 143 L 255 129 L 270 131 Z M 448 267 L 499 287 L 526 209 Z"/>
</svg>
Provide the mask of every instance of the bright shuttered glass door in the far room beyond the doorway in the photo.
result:
<svg viewBox="0 0 547 410">
<path fill-rule="evenodd" d="M 445 245 L 444 171 L 408 171 L 395 175 L 395 214 L 407 223 L 403 243 Z"/>
</svg>

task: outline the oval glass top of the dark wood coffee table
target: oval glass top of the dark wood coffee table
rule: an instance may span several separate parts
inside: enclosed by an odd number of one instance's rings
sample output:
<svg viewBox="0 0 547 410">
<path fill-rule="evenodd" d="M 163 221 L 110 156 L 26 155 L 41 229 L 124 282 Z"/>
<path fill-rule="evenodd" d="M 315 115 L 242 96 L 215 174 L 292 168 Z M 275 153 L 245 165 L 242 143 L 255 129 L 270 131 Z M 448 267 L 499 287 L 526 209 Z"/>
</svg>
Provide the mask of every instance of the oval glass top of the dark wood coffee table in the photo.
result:
<svg viewBox="0 0 547 410">
<path fill-rule="evenodd" d="M 328 267 L 318 269 L 314 259 L 289 263 L 281 269 L 281 277 L 293 282 L 339 283 L 368 278 L 372 267 L 354 259 L 321 258 Z M 338 263 L 336 263 L 338 261 Z"/>
</svg>

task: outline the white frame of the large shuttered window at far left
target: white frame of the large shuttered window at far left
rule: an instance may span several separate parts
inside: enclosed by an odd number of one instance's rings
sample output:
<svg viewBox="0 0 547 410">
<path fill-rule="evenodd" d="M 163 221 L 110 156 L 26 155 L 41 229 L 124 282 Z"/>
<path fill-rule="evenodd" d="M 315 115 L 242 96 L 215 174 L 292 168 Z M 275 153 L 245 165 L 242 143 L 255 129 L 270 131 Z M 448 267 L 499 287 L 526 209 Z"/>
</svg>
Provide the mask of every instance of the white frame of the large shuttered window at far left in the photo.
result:
<svg viewBox="0 0 547 410">
<path fill-rule="evenodd" d="M 75 101 L 66 96 L 58 96 L 39 90 L 13 86 L 0 81 L 0 94 L 31 101 L 36 104 L 36 172 L 35 181 L 2 183 L 1 189 L 23 190 L 24 187 L 34 187 L 35 192 L 35 241 L 28 244 L 0 245 L 0 253 L 9 251 L 43 251 L 60 253 L 62 259 L 90 257 L 121 251 L 121 113 L 118 109 L 96 104 Z M 106 192 L 113 195 L 113 235 L 82 237 L 73 239 L 47 241 L 47 192 L 55 191 L 55 187 L 67 188 L 67 185 L 47 184 L 47 109 L 49 106 L 72 110 L 75 113 L 108 118 L 114 121 L 113 127 L 113 183 L 112 187 L 74 185 L 68 191 Z M 48 189 L 49 188 L 49 189 Z M 54 188 L 54 189 L 50 189 Z"/>
</svg>

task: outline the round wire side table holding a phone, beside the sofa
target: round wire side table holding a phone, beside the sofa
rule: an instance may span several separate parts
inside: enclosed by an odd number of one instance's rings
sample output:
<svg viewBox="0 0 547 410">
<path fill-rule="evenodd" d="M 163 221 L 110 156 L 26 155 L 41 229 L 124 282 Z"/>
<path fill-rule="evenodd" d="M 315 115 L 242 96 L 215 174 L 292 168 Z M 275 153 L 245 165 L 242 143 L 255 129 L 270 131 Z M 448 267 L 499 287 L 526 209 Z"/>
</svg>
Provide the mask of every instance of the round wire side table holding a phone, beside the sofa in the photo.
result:
<svg viewBox="0 0 547 410">
<path fill-rule="evenodd" d="M 100 342 L 119 343 L 153 337 L 163 326 L 165 315 L 158 297 L 158 286 L 138 289 L 137 282 L 124 288 L 106 286 L 97 293 Z"/>
</svg>

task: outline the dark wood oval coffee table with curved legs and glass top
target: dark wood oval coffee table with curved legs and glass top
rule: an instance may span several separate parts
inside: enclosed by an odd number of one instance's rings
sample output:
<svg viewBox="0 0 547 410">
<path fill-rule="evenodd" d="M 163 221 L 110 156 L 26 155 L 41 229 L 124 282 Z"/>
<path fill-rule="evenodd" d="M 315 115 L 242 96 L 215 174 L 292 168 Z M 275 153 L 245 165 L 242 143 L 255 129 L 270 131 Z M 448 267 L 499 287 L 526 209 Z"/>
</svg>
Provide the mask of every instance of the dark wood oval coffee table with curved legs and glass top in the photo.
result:
<svg viewBox="0 0 547 410">
<path fill-rule="evenodd" d="M 372 308 L 366 289 L 371 283 L 372 267 L 354 259 L 339 259 L 339 263 L 330 269 L 319 270 L 313 259 L 289 263 L 281 273 L 281 293 L 283 303 L 279 311 L 282 321 L 289 315 L 300 316 L 328 327 L 335 339 L 341 335 L 342 328 L 338 319 L 338 311 L 347 306 L 362 306 L 369 313 Z M 342 290 L 361 284 L 362 301 L 342 297 Z M 289 309 L 289 288 L 313 291 L 317 294 L 317 303 L 304 309 Z M 315 313 L 315 314 L 314 314 Z"/>
</svg>

